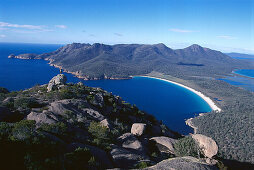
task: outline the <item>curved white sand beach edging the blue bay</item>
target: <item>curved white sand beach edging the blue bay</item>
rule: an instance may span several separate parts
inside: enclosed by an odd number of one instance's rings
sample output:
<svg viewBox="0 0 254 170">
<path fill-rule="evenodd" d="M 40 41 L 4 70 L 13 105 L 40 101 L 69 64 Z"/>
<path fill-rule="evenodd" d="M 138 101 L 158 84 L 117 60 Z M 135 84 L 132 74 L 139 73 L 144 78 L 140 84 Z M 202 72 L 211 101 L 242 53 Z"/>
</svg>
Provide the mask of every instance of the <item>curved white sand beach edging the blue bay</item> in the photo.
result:
<svg viewBox="0 0 254 170">
<path fill-rule="evenodd" d="M 188 86 L 185 86 L 183 84 L 176 83 L 174 81 L 170 81 L 170 80 L 166 80 L 166 79 L 162 79 L 162 78 L 151 77 L 151 76 L 133 76 L 133 77 L 148 77 L 148 78 L 158 79 L 158 80 L 166 81 L 166 82 L 169 82 L 169 83 L 181 86 L 181 87 L 183 87 L 185 89 L 188 89 L 188 90 L 192 91 L 193 93 L 195 93 L 199 97 L 201 97 L 211 107 L 211 109 L 213 111 L 215 111 L 215 112 L 221 112 L 221 109 L 218 106 L 216 106 L 215 103 L 209 97 L 207 97 L 203 93 L 201 93 L 201 92 L 199 92 L 199 91 L 197 91 L 197 90 L 195 90 L 193 88 L 190 88 Z"/>
</svg>

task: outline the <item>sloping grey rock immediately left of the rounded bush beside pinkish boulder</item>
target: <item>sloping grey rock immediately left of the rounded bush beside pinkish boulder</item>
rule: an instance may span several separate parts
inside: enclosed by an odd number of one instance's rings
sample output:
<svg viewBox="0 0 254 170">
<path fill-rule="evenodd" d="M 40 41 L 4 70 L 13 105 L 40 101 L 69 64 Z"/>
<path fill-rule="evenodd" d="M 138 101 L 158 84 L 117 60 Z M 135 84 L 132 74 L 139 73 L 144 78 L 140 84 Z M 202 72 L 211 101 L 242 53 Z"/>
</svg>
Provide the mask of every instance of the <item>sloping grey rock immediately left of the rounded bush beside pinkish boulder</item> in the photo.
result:
<svg viewBox="0 0 254 170">
<path fill-rule="evenodd" d="M 153 137 L 150 140 L 153 140 L 156 142 L 156 146 L 160 150 L 160 152 L 166 152 L 166 153 L 172 153 L 174 154 L 174 144 L 176 143 L 177 140 L 165 137 L 165 136 L 160 136 L 160 137 Z"/>
</svg>

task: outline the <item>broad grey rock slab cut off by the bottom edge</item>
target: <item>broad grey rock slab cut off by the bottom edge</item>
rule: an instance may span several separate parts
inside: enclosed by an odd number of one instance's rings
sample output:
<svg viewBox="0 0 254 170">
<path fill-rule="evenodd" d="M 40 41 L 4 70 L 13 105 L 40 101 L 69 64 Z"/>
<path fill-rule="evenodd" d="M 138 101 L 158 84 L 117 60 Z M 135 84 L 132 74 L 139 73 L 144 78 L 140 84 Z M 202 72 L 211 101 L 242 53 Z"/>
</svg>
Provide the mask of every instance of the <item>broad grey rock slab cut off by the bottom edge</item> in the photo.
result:
<svg viewBox="0 0 254 170">
<path fill-rule="evenodd" d="M 217 170 L 205 162 L 190 156 L 171 158 L 157 163 L 154 166 L 145 168 L 145 170 Z"/>
</svg>

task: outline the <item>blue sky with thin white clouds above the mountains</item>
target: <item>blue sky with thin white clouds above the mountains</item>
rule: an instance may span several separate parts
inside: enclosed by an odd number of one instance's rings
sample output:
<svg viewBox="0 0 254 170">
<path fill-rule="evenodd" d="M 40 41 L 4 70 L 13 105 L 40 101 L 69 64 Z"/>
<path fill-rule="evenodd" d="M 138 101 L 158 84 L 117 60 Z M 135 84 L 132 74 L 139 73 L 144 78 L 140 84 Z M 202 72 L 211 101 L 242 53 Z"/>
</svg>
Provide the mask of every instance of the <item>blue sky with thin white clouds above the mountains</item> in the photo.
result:
<svg viewBox="0 0 254 170">
<path fill-rule="evenodd" d="M 1 0 L 0 42 L 199 44 L 254 54 L 254 0 Z"/>
</svg>

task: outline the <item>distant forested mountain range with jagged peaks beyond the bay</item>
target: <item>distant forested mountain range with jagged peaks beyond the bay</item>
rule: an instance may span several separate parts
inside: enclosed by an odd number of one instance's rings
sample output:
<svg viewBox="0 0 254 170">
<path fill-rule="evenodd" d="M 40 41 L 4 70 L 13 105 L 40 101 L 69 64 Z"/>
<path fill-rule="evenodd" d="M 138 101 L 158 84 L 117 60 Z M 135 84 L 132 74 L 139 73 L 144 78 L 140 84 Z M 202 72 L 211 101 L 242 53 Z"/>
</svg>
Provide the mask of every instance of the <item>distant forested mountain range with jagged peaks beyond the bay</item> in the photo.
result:
<svg viewBox="0 0 254 170">
<path fill-rule="evenodd" d="M 213 76 L 250 67 L 247 62 L 196 44 L 173 50 L 164 44 L 73 43 L 51 53 L 14 56 L 22 57 L 49 60 L 50 64 L 85 79 L 119 79 L 152 71 L 177 77 Z"/>
</svg>

